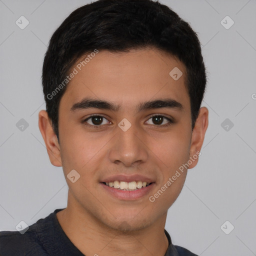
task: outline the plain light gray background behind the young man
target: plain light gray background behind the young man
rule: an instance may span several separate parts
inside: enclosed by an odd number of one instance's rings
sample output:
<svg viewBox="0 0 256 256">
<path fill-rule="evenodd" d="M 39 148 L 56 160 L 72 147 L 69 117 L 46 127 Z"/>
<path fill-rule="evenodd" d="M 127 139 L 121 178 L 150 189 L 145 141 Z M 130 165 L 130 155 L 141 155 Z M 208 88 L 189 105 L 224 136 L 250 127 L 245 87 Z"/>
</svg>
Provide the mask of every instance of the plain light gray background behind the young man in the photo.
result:
<svg viewBox="0 0 256 256">
<path fill-rule="evenodd" d="M 0 230 L 66 207 L 62 168 L 51 165 L 37 124 L 45 109 L 40 77 L 50 36 L 88 2 L 0 0 Z M 174 244 L 198 255 L 256 255 L 256 0 L 161 2 L 198 33 L 208 75 L 202 106 L 209 109 L 199 163 L 188 170 L 166 229 Z M 21 15 L 29 21 L 24 29 L 15 24 Z M 226 15 L 234 21 L 229 29 L 220 22 Z M 226 220 L 234 226 L 229 234 L 220 228 Z"/>
</svg>

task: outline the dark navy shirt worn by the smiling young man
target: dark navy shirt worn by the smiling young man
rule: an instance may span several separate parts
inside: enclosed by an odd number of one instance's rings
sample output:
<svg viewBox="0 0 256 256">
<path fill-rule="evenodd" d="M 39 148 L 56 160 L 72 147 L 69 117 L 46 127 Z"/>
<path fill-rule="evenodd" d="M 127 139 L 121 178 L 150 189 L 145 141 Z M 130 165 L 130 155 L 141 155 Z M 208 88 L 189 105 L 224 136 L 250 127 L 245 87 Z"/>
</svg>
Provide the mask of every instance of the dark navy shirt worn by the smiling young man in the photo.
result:
<svg viewBox="0 0 256 256">
<path fill-rule="evenodd" d="M 69 240 L 61 228 L 55 209 L 45 218 L 30 225 L 25 233 L 19 231 L 0 232 L 0 256 L 84 256 Z M 164 256 L 197 256 L 180 246 L 172 245 L 164 229 L 169 246 Z"/>
</svg>

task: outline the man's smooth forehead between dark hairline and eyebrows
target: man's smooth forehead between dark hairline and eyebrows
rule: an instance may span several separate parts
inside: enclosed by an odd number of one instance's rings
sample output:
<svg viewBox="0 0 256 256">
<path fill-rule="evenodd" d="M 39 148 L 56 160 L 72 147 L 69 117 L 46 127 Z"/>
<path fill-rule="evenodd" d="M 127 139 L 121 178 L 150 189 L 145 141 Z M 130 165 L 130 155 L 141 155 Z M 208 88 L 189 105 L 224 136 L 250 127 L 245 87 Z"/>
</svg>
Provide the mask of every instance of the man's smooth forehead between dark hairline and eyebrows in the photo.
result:
<svg viewBox="0 0 256 256">
<path fill-rule="evenodd" d="M 155 48 L 87 53 L 71 67 L 70 71 L 73 70 L 76 70 L 76 74 L 70 79 L 61 98 L 61 101 L 64 98 L 70 104 L 85 96 L 129 102 L 130 107 L 130 102 L 135 104 L 142 99 L 166 96 L 182 101 L 183 105 L 189 104 L 184 64 Z"/>
</svg>

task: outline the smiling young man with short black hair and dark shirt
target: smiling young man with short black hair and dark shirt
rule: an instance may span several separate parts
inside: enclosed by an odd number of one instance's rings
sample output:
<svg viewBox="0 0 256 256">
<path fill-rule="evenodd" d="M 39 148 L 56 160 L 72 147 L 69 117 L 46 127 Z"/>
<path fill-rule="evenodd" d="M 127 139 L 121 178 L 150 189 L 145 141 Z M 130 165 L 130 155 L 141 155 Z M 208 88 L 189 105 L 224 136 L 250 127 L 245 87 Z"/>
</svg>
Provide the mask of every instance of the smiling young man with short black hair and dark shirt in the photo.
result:
<svg viewBox="0 0 256 256">
<path fill-rule="evenodd" d="M 167 6 L 98 0 L 73 11 L 45 54 L 38 122 L 67 207 L 23 234 L 0 232 L 0 255 L 195 255 L 164 226 L 198 161 L 205 83 L 198 38 Z"/>
</svg>

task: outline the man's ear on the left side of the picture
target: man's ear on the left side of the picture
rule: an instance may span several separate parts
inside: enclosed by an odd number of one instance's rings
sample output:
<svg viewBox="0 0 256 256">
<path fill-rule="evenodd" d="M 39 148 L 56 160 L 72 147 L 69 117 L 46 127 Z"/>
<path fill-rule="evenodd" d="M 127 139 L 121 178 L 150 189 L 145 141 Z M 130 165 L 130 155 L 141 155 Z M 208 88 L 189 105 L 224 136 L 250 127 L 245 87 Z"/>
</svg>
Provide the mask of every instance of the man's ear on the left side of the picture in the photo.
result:
<svg viewBox="0 0 256 256">
<path fill-rule="evenodd" d="M 38 126 L 42 134 L 51 164 L 54 166 L 62 166 L 57 136 L 52 129 L 51 120 L 49 119 L 45 110 L 41 110 L 38 114 Z"/>
</svg>

